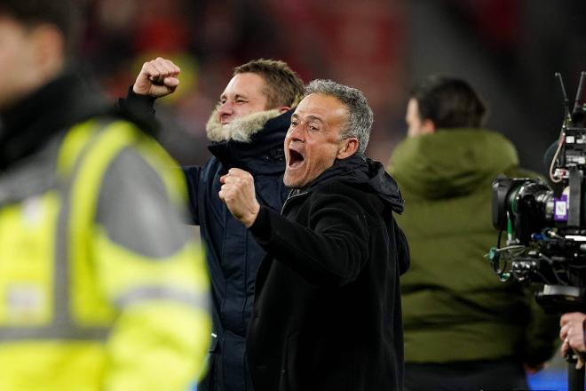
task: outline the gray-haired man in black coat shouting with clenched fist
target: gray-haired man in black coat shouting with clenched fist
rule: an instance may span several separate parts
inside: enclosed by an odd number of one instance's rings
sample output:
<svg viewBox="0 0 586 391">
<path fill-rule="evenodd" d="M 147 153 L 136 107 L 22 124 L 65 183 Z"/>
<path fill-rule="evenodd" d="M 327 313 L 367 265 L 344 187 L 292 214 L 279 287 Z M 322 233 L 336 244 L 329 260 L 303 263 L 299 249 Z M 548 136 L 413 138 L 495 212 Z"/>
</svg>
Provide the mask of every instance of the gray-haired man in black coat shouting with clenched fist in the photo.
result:
<svg viewBox="0 0 586 391">
<path fill-rule="evenodd" d="M 285 138 L 282 211 L 260 205 L 249 172 L 221 178 L 220 198 L 268 252 L 247 339 L 257 391 L 402 389 L 403 201 L 363 155 L 372 123 L 362 92 L 314 80 Z"/>
</svg>

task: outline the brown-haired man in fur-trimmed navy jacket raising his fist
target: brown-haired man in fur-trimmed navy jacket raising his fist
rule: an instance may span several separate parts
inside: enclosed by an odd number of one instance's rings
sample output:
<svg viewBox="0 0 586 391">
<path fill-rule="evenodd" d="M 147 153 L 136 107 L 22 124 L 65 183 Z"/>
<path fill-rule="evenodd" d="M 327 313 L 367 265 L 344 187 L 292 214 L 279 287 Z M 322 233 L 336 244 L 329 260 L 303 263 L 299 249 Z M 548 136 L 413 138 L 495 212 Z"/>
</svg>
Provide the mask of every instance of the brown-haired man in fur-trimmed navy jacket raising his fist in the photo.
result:
<svg viewBox="0 0 586 391">
<path fill-rule="evenodd" d="M 179 68 L 170 60 L 148 61 L 120 105 L 154 113 L 157 98 L 178 87 Z M 218 197 L 219 179 L 231 168 L 254 176 L 257 197 L 281 211 L 288 190 L 283 140 L 292 110 L 304 92 L 303 81 L 279 60 L 252 60 L 234 68 L 233 77 L 211 113 L 206 131 L 213 155 L 202 167 L 183 167 L 193 224 L 206 244 L 213 288 L 210 371 L 198 389 L 251 391 L 246 362 L 246 331 L 254 303 L 257 269 L 265 258 L 246 227 Z"/>
</svg>

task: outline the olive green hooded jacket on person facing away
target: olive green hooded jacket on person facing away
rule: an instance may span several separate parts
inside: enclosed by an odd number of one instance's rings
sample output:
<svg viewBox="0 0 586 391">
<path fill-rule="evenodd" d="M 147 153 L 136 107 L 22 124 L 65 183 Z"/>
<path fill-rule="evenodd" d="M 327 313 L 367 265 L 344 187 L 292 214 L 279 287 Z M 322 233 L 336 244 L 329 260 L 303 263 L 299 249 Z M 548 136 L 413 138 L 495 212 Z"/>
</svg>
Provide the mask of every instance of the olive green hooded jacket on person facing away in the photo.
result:
<svg viewBox="0 0 586 391">
<path fill-rule="evenodd" d="M 497 241 L 492 181 L 537 175 L 518 164 L 511 142 L 485 130 L 435 132 L 394 150 L 390 172 L 406 201 L 397 220 L 411 249 L 401 277 L 407 363 L 535 364 L 553 354 L 557 318 L 527 287 L 500 282 L 485 258 Z"/>
</svg>

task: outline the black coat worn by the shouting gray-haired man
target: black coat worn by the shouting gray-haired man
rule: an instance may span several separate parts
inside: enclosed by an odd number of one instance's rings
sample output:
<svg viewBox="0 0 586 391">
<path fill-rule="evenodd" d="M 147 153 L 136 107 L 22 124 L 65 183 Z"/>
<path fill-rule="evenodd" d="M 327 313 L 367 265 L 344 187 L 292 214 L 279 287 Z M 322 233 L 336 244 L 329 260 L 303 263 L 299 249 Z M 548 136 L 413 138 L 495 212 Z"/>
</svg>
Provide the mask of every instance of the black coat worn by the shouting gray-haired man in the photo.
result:
<svg viewBox="0 0 586 391">
<path fill-rule="evenodd" d="M 400 390 L 403 202 L 381 164 L 337 161 L 250 231 L 268 256 L 247 339 L 257 391 Z"/>
</svg>

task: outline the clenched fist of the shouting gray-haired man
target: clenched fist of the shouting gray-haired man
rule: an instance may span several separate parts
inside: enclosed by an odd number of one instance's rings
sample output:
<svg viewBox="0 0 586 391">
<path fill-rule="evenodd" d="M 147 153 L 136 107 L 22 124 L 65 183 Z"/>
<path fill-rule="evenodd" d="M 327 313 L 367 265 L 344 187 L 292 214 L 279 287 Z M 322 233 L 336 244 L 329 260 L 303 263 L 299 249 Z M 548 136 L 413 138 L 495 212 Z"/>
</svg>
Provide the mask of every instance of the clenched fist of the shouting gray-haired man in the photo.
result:
<svg viewBox="0 0 586 391">
<path fill-rule="evenodd" d="M 257 219 L 260 205 L 254 190 L 254 179 L 249 172 L 231 168 L 220 178 L 222 187 L 218 193 L 235 219 L 250 227 Z"/>
</svg>

